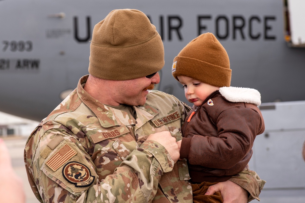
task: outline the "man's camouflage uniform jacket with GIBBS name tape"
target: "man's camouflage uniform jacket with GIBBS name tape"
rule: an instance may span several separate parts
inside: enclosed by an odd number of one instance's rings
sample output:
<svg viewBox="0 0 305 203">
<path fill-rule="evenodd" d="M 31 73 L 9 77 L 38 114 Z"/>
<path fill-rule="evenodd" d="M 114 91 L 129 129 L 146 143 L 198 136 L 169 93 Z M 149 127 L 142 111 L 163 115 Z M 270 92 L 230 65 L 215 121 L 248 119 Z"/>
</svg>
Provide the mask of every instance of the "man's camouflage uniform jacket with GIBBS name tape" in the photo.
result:
<svg viewBox="0 0 305 203">
<path fill-rule="evenodd" d="M 190 108 L 151 91 L 130 113 L 103 105 L 83 89 L 88 76 L 43 119 L 25 146 L 32 190 L 41 202 L 192 202 L 185 160 L 146 140 L 170 131 L 177 141 Z M 260 181 L 246 171 L 231 178 L 255 198 Z M 252 197 L 251 196 L 251 197 Z"/>
</svg>

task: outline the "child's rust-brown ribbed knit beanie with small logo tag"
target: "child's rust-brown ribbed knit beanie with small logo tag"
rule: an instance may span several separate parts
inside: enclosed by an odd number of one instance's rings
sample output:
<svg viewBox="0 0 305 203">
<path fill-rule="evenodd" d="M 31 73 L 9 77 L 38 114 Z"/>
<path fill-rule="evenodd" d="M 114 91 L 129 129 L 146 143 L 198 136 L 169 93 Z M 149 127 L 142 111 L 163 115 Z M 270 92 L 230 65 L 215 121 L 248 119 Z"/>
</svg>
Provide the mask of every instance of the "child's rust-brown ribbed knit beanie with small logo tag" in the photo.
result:
<svg viewBox="0 0 305 203">
<path fill-rule="evenodd" d="M 180 51 L 174 58 L 172 74 L 176 80 L 184 75 L 216 87 L 231 83 L 228 54 L 212 33 L 199 35 Z"/>
</svg>

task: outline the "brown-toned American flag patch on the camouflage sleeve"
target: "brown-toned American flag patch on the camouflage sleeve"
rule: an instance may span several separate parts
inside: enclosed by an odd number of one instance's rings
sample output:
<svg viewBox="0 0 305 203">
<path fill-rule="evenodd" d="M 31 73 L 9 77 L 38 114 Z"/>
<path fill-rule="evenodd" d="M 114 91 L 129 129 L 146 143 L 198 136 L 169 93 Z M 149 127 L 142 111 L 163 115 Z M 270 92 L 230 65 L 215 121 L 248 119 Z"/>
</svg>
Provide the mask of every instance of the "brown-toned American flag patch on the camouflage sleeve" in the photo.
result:
<svg viewBox="0 0 305 203">
<path fill-rule="evenodd" d="M 72 149 L 69 145 L 65 144 L 56 154 L 54 154 L 46 163 L 50 169 L 56 171 L 59 169 L 64 163 L 70 160 L 77 154 L 74 149 Z"/>
</svg>

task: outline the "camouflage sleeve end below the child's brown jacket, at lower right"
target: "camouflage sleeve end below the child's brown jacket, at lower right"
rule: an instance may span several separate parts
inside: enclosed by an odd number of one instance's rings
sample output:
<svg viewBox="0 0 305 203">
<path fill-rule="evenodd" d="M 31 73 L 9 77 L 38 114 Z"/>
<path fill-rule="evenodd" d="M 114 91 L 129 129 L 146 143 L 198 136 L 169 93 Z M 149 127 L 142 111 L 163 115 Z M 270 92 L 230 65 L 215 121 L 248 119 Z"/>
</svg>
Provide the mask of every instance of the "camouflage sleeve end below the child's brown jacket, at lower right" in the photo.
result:
<svg viewBox="0 0 305 203">
<path fill-rule="evenodd" d="M 248 191 L 248 202 L 252 201 L 253 199 L 260 201 L 258 196 L 266 181 L 261 180 L 255 171 L 249 170 L 248 167 L 245 169 L 246 170 L 243 170 L 239 174 L 232 176 L 229 180 L 235 182 Z"/>
</svg>

